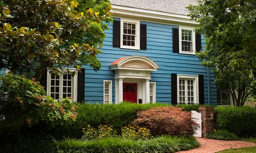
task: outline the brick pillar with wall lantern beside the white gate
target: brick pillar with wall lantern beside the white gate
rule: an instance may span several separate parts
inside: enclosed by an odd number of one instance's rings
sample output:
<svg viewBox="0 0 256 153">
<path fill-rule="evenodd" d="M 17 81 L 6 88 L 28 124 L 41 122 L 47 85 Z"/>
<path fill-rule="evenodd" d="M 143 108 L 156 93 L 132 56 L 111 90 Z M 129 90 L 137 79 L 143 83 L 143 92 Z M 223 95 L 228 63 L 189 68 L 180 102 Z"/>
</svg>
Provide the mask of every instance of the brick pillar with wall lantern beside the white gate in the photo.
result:
<svg viewBox="0 0 256 153">
<path fill-rule="evenodd" d="M 214 107 L 204 106 L 199 107 L 199 113 L 202 113 L 202 137 L 206 138 L 208 133 L 214 132 Z"/>
</svg>

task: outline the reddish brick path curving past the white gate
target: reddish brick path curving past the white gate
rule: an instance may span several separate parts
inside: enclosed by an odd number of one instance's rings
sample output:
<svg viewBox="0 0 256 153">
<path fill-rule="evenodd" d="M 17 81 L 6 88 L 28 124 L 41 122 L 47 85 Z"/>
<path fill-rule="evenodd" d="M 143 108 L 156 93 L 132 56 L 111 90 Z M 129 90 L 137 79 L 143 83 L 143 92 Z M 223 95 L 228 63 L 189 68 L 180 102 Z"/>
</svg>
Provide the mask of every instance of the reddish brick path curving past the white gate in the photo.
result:
<svg viewBox="0 0 256 153">
<path fill-rule="evenodd" d="M 182 153 L 192 153 L 192 152 L 217 152 L 226 149 L 232 148 L 243 148 L 256 146 L 256 143 L 246 142 L 246 141 L 224 141 L 224 140 L 214 140 L 206 138 L 196 138 L 197 141 L 201 144 L 200 147 L 196 149 L 190 149 L 186 151 L 179 151 Z"/>
</svg>

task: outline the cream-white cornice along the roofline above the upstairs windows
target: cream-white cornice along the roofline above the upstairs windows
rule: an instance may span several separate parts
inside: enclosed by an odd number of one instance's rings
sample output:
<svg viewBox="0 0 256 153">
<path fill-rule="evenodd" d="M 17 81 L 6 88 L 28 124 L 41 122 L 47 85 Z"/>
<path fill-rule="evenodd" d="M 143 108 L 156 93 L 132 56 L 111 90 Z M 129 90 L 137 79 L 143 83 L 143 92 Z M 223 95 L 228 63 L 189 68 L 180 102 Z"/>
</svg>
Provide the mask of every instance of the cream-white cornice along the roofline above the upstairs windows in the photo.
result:
<svg viewBox="0 0 256 153">
<path fill-rule="evenodd" d="M 139 9 L 133 7 L 125 7 L 119 5 L 112 5 L 113 16 L 135 16 L 135 17 L 145 17 L 151 19 L 160 19 L 166 21 L 174 21 L 188 24 L 199 24 L 195 20 L 190 20 L 187 15 L 167 13 L 154 10 Z"/>
</svg>

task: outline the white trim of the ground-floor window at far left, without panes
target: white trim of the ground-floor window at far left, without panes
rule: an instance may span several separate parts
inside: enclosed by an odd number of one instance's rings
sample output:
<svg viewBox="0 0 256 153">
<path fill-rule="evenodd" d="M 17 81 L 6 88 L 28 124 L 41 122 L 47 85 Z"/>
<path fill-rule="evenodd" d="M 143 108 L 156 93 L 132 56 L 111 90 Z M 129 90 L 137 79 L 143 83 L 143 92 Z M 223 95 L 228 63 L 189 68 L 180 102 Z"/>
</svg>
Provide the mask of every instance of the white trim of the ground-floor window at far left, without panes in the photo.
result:
<svg viewBox="0 0 256 153">
<path fill-rule="evenodd" d="M 61 100 L 62 98 L 62 82 L 63 82 L 63 74 L 64 73 L 71 73 L 72 70 L 75 70 L 75 69 L 69 69 L 70 72 L 67 71 L 67 69 L 64 69 L 63 71 L 61 71 L 59 73 L 59 99 L 58 100 Z M 50 73 L 50 70 L 47 71 L 47 95 L 51 96 L 50 93 L 51 93 L 51 73 Z M 71 79 L 71 97 L 73 98 L 73 101 L 77 101 L 77 70 L 76 70 L 76 73 L 74 75 L 74 77 L 72 77 Z M 55 97 L 54 97 L 55 99 Z"/>
</svg>

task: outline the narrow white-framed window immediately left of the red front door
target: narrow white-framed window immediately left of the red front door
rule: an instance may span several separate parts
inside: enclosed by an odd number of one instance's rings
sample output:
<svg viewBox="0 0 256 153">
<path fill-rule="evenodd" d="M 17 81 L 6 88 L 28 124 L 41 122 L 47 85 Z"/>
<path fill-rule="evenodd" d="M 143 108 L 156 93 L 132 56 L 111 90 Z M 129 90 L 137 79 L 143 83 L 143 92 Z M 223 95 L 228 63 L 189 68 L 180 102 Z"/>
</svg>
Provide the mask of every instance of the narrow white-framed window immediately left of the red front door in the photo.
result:
<svg viewBox="0 0 256 153">
<path fill-rule="evenodd" d="M 112 104 L 112 81 L 103 81 L 103 103 Z"/>
</svg>

